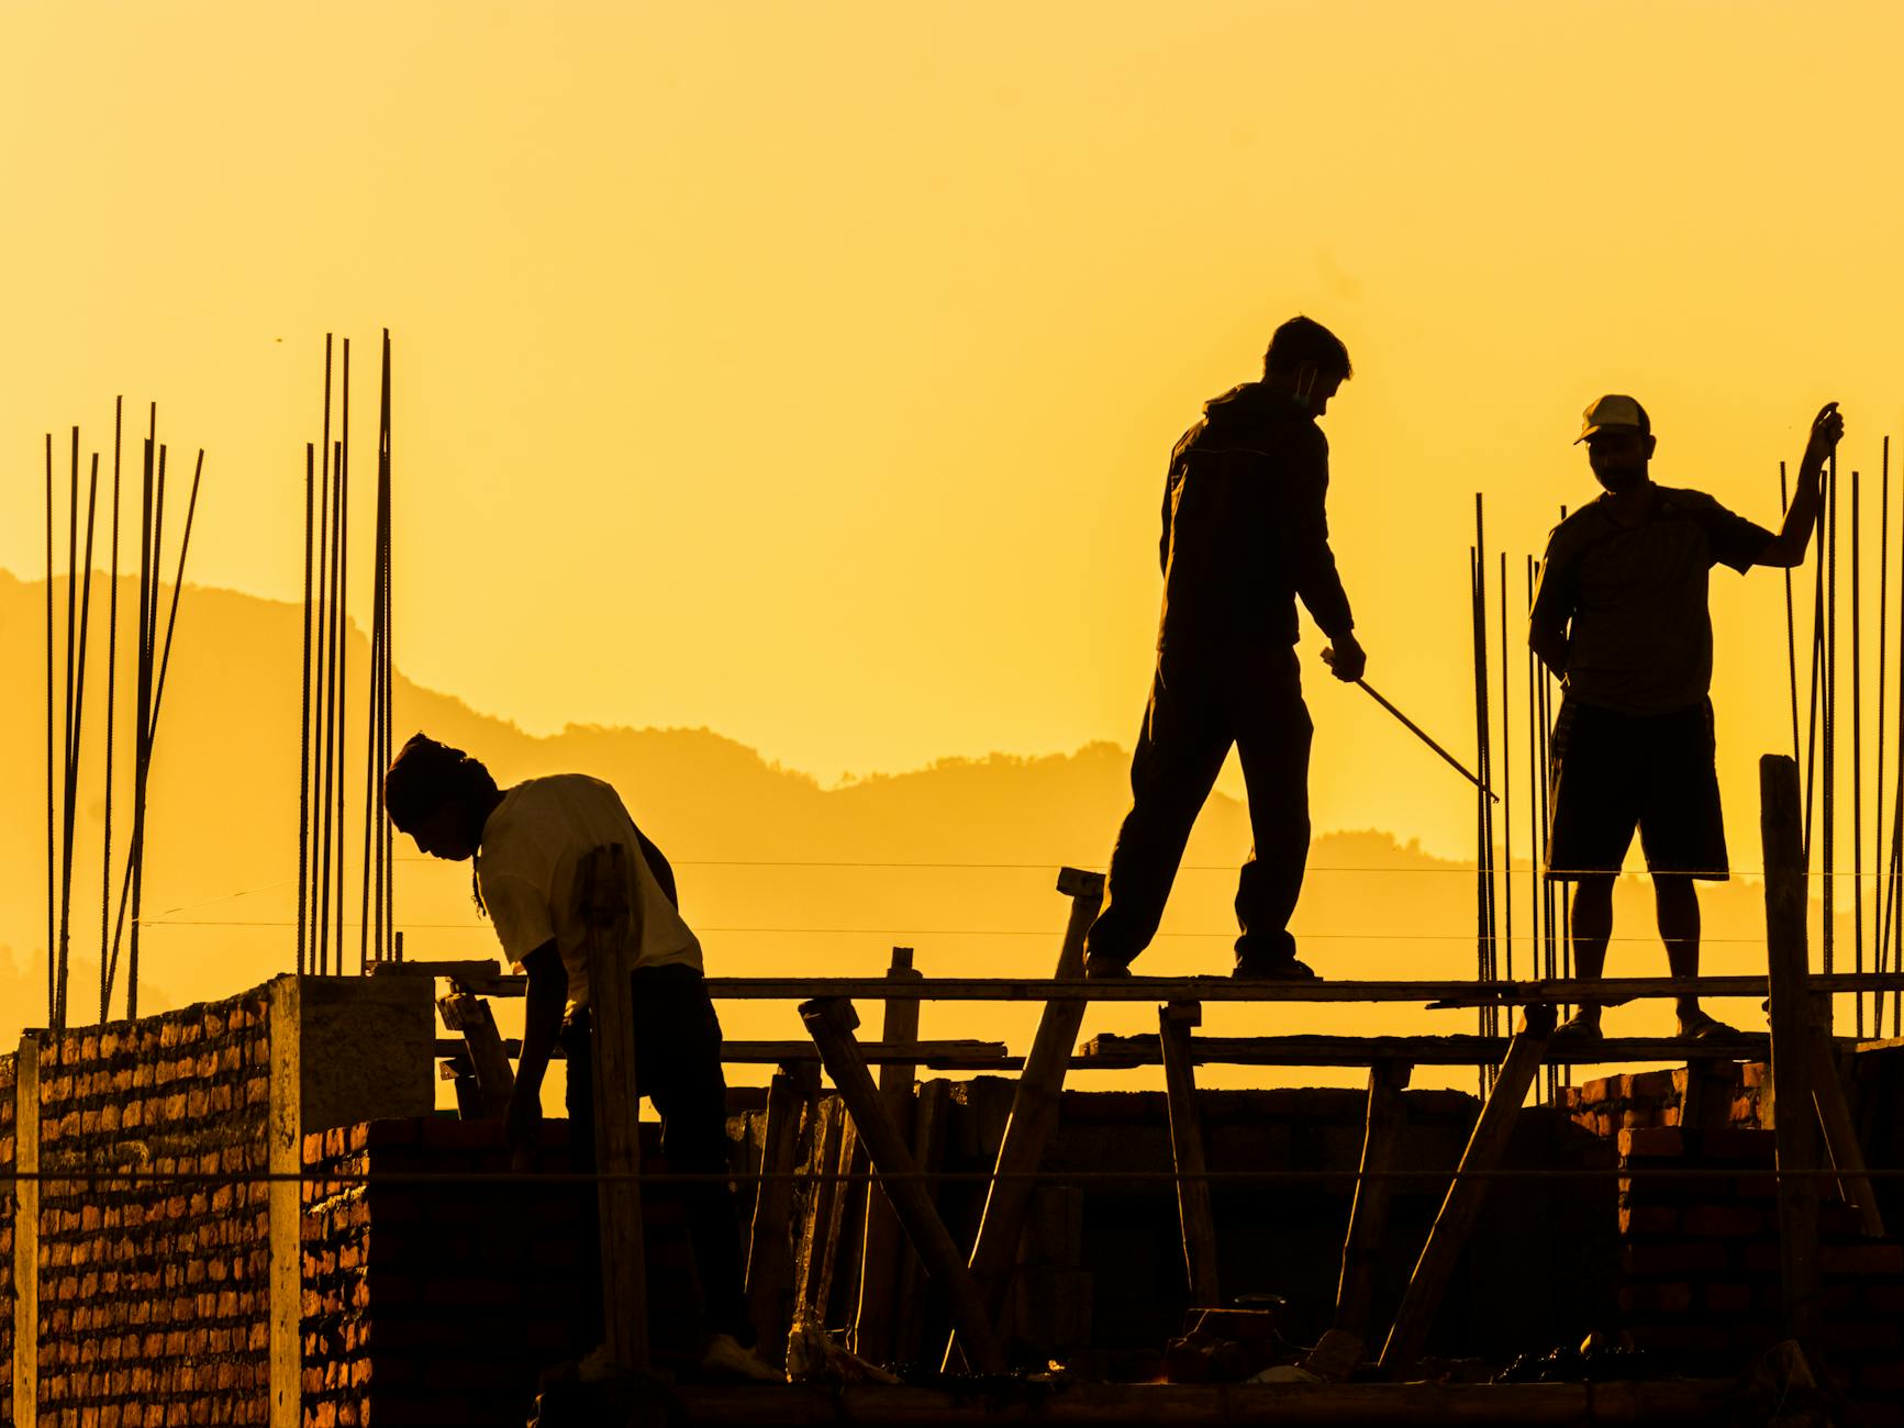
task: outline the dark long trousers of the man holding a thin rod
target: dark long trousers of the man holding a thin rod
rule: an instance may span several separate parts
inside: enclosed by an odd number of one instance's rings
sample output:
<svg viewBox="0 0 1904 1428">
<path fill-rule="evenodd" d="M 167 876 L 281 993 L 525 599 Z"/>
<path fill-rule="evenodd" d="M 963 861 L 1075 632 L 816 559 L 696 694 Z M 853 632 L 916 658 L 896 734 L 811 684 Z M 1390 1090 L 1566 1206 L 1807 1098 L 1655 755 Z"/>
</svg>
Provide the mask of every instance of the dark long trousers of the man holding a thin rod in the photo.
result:
<svg viewBox="0 0 1904 1428">
<path fill-rule="evenodd" d="M 1247 973 L 1289 962 L 1289 916 L 1308 861 L 1310 731 L 1295 649 L 1160 655 L 1131 758 L 1131 811 L 1085 950 L 1131 962 L 1156 937 L 1190 828 L 1236 744 L 1255 838 L 1236 889 L 1236 965 Z"/>
</svg>

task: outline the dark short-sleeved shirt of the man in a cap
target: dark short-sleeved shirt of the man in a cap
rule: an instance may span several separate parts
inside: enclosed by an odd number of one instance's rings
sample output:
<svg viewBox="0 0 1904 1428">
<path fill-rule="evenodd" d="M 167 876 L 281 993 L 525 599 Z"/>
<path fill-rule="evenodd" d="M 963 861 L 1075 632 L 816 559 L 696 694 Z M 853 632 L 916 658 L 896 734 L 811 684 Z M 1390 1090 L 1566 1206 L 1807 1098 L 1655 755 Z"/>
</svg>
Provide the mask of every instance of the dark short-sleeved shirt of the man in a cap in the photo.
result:
<svg viewBox="0 0 1904 1428">
<path fill-rule="evenodd" d="M 1708 571 L 1744 573 L 1773 533 L 1704 491 L 1662 486 L 1639 526 L 1607 514 L 1607 497 L 1548 537 L 1533 623 L 1567 625 L 1567 695 L 1622 714 L 1666 714 L 1712 685 Z"/>
</svg>

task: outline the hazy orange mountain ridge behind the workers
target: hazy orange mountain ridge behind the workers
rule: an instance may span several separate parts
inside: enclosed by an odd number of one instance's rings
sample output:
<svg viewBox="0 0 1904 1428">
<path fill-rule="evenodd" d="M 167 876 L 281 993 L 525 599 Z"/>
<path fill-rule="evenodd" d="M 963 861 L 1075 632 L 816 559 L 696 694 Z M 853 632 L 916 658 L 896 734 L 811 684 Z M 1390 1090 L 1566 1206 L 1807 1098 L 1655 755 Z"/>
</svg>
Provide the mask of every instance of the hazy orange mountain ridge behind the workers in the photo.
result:
<svg viewBox="0 0 1904 1428">
<path fill-rule="evenodd" d="M 95 577 L 72 901 L 74 1021 L 97 1017 L 107 594 L 107 579 Z M 55 581 L 53 596 L 63 625 L 65 581 Z M 0 571 L 0 661 L 15 691 L 0 708 L 13 771 L 0 803 L 0 853 L 15 870 L 0 889 L 0 1045 L 46 1017 L 44 600 L 44 583 Z M 128 579 L 120 590 L 126 625 L 133 605 Z M 297 605 L 230 590 L 187 586 L 183 594 L 150 784 L 141 1011 L 221 996 L 295 963 L 301 619 Z M 133 664 L 126 645 L 122 640 L 116 857 L 129 830 Z M 366 640 L 352 632 L 345 779 L 350 971 L 358 965 L 366 661 Z M 577 725 L 541 739 L 402 676 L 394 708 L 400 741 L 426 729 L 484 758 L 505 784 L 571 769 L 611 781 L 676 861 L 684 908 L 703 933 L 710 969 L 722 973 L 872 973 L 885 965 L 893 944 L 916 946 L 927 973 L 1047 973 L 1066 914 L 1053 891 L 1055 872 L 1066 863 L 1102 866 L 1127 800 L 1127 754 L 1112 744 L 1047 758 L 944 760 L 823 788 L 706 729 Z M 1733 823 L 1740 834 L 1752 828 L 1744 809 L 1733 809 Z M 1163 935 L 1139 971 L 1228 971 L 1234 870 L 1247 845 L 1241 805 L 1213 796 L 1192 836 Z M 398 855 L 406 859 L 398 868 L 398 923 L 407 956 L 495 956 L 493 935 L 470 904 L 466 864 L 417 859 L 407 840 Z M 1392 832 L 1319 836 L 1310 864 L 1295 931 L 1323 975 L 1476 973 L 1472 864 L 1464 870 L 1430 857 Z M 1517 975 L 1529 971 L 1531 897 L 1521 861 L 1512 887 Z M 1757 885 L 1710 889 L 1704 906 L 1708 969 L 1761 969 Z M 1616 933 L 1637 941 L 1615 944 L 1613 975 L 1664 973 L 1643 880 L 1622 883 Z M 93 962 L 82 971 L 84 958 Z M 124 1015 L 124 990 L 114 996 L 114 1015 Z M 876 1009 L 866 1015 L 876 1026 Z M 1609 1024 L 1664 1030 L 1666 1015 L 1664 1005 L 1628 1007 Z M 1759 1024 L 1754 1009 L 1742 1015 Z M 1026 1007 L 948 1003 L 927 1009 L 925 1032 L 998 1036 L 1022 1045 L 1034 1019 Z M 1087 1032 L 1154 1030 L 1154 1019 L 1144 1005 L 1093 1009 Z M 800 1034 L 784 1005 L 731 1003 L 724 1021 L 735 1036 Z M 1472 1030 L 1474 1017 L 1415 1005 L 1211 1007 L 1207 1026 L 1457 1032 Z"/>
</svg>

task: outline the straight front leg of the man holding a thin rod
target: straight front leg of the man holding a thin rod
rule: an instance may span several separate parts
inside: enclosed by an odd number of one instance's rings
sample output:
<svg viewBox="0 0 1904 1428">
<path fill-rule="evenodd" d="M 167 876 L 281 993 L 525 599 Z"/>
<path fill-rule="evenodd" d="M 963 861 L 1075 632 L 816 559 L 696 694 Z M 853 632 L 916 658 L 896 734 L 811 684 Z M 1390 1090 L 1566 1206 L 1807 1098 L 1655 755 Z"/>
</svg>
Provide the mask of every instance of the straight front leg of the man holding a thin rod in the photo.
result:
<svg viewBox="0 0 1904 1428">
<path fill-rule="evenodd" d="M 1249 794 L 1253 845 L 1236 887 L 1238 975 L 1287 975 L 1297 944 L 1289 918 L 1308 864 L 1310 724 L 1297 655 L 1274 651 L 1234 672 L 1230 716 Z"/>
</svg>

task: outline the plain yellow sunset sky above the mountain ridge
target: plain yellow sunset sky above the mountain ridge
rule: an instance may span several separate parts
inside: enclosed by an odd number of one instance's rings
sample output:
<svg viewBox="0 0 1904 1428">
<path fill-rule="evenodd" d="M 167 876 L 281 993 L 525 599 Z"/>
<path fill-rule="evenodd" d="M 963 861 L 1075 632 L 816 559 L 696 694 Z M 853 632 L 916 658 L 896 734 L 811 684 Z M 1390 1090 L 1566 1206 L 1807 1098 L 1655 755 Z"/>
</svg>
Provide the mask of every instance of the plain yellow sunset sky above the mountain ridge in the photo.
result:
<svg viewBox="0 0 1904 1428">
<path fill-rule="evenodd" d="M 4 0 L 0 565 L 42 571 L 44 432 L 93 449 L 124 392 L 208 449 L 190 577 L 295 600 L 324 333 L 367 436 L 390 327 L 419 684 L 823 781 L 1127 746 L 1167 451 L 1300 310 L 1356 362 L 1369 680 L 1472 754 L 1474 493 L 1519 684 L 1594 396 L 1763 524 L 1835 398 L 1875 489 L 1900 53 L 1891 4 Z M 1752 866 L 1782 586 L 1714 586 Z M 1470 853 L 1464 784 L 1318 647 L 1318 830 Z"/>
</svg>

